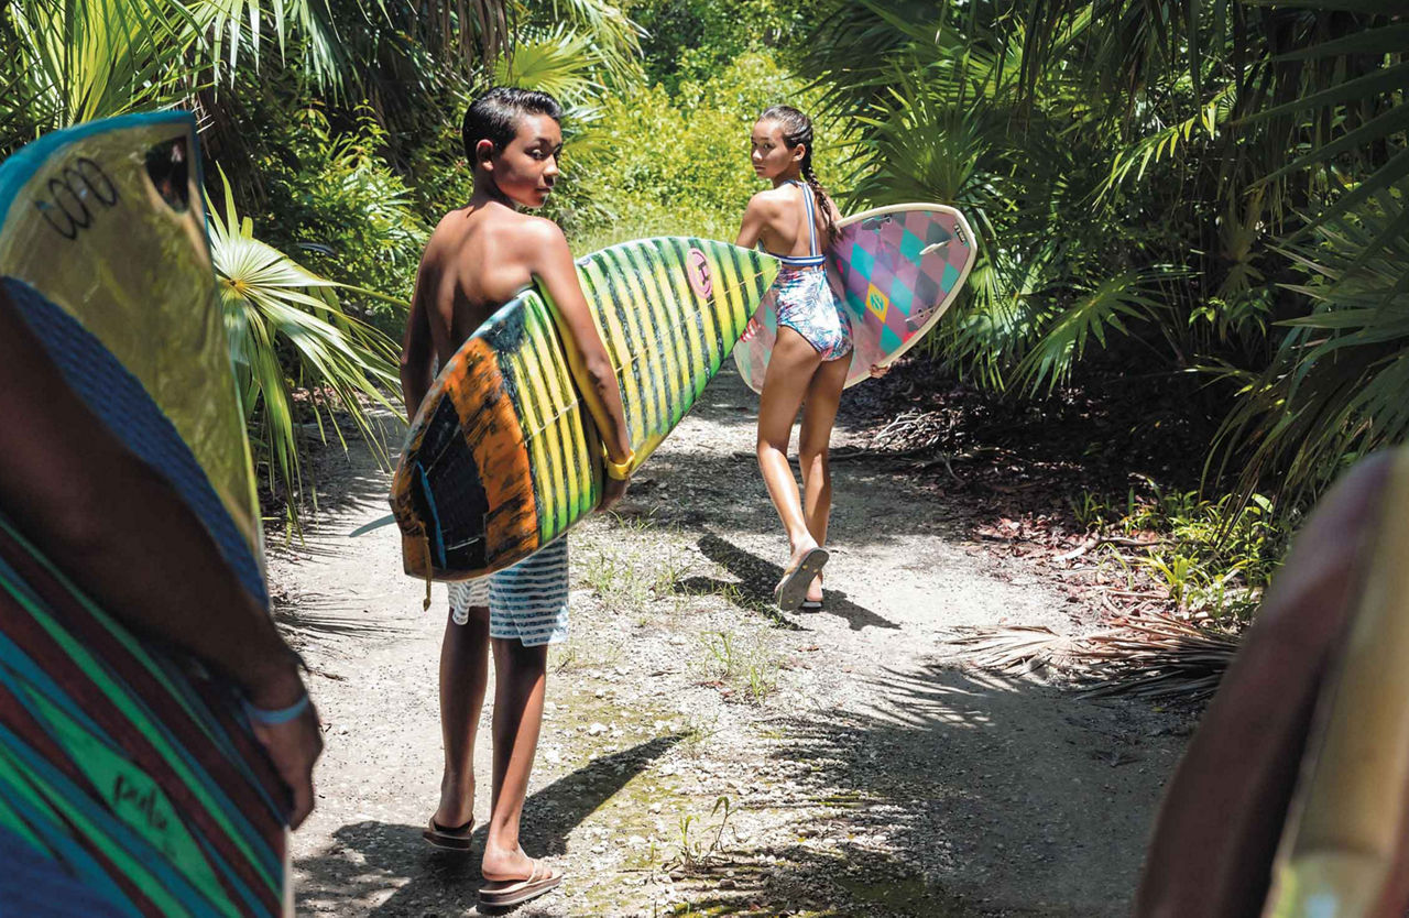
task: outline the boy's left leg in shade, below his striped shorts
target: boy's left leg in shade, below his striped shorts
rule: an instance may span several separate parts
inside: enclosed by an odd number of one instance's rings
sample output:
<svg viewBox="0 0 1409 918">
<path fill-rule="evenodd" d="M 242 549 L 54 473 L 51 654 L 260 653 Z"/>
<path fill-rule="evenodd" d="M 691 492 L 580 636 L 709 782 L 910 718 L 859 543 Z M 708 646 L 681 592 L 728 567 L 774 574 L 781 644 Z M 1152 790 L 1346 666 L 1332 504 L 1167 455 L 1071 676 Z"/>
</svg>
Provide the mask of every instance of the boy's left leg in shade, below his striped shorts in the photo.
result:
<svg viewBox="0 0 1409 918">
<path fill-rule="evenodd" d="M 457 605 L 457 600 L 461 604 Z M 469 584 L 451 589 L 455 614 L 445 620 L 440 665 L 445 772 L 441 774 L 440 807 L 433 817 L 442 829 L 459 828 L 473 817 L 475 732 L 489 684 L 489 608 L 485 603 L 488 591 L 483 586 L 478 591 Z"/>
</svg>

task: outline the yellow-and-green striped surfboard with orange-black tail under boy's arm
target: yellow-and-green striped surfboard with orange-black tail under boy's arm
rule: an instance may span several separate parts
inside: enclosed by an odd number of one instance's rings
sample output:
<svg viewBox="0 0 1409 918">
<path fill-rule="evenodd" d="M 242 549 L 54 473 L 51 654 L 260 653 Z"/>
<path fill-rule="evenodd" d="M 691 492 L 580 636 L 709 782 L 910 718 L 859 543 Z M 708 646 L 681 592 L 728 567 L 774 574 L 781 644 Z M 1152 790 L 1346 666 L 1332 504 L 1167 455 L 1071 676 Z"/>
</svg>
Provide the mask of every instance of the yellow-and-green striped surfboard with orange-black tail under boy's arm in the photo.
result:
<svg viewBox="0 0 1409 918">
<path fill-rule="evenodd" d="M 637 466 L 719 372 L 776 273 L 776 259 L 697 238 L 578 260 Z M 392 483 L 407 573 L 464 580 L 507 567 L 597 505 L 602 444 L 554 315 L 528 289 L 441 369 Z"/>
</svg>

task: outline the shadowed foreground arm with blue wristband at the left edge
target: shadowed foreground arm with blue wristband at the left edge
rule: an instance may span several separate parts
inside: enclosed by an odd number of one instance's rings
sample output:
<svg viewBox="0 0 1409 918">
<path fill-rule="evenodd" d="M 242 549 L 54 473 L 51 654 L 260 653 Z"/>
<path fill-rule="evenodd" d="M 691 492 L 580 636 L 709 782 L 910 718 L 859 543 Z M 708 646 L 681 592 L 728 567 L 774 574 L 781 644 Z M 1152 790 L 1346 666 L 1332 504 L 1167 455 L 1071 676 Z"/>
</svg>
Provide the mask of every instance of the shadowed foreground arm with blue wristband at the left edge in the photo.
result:
<svg viewBox="0 0 1409 918">
<path fill-rule="evenodd" d="M 0 289 L 0 510 L 104 610 L 176 645 L 278 710 L 306 697 L 299 660 L 268 610 L 225 565 L 176 491 L 93 415 Z M 293 791 L 294 826 L 313 810 L 317 712 L 255 725 Z"/>
</svg>

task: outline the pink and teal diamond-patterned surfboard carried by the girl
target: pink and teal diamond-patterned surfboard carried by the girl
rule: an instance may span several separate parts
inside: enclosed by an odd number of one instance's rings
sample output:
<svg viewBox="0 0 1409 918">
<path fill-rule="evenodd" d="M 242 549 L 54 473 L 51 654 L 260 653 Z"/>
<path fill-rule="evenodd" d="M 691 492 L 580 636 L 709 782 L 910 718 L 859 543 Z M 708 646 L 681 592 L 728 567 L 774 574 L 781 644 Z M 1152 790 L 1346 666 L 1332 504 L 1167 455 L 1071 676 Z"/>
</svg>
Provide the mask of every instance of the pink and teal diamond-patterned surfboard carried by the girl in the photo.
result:
<svg viewBox="0 0 1409 918">
<path fill-rule="evenodd" d="M 889 366 L 934 328 L 974 268 L 978 239 L 964 214 L 944 204 L 893 204 L 847 217 L 826 251 L 827 280 L 851 320 L 855 352 L 847 386 Z M 734 346 L 754 391 L 764 387 L 778 338 L 774 293 L 759 306 L 757 335 Z"/>
</svg>

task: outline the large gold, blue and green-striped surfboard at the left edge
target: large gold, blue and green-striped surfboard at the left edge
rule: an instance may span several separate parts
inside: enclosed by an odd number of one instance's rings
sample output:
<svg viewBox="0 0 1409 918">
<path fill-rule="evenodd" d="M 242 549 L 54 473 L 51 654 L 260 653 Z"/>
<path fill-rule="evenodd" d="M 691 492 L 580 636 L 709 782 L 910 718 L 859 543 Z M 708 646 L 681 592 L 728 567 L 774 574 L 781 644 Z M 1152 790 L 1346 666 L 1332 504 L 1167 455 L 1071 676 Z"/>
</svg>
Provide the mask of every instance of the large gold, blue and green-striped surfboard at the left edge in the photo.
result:
<svg viewBox="0 0 1409 918">
<path fill-rule="evenodd" d="M 263 604 L 194 127 L 94 121 L 0 163 L 0 284 Z M 287 790 L 234 688 L 134 635 L 28 538 L 0 514 L 0 914 L 283 914 Z"/>
</svg>

